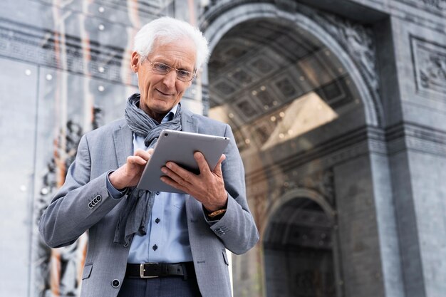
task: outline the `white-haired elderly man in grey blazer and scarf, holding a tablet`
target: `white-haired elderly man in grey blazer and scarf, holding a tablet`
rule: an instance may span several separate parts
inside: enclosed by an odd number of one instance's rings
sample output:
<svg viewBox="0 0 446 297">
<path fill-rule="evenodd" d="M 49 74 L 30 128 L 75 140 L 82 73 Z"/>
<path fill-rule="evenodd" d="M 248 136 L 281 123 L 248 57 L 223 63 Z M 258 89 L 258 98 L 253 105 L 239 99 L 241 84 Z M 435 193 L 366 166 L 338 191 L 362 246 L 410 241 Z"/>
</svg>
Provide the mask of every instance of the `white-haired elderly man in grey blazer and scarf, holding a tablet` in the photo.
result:
<svg viewBox="0 0 446 297">
<path fill-rule="evenodd" d="M 51 247 L 88 230 L 81 297 L 231 296 L 226 249 L 242 254 L 259 233 L 231 128 L 180 104 L 208 55 L 202 33 L 183 21 L 156 19 L 135 36 L 140 94 L 128 99 L 124 119 L 82 137 L 39 224 Z M 199 152 L 199 174 L 173 162 L 162 168 L 162 181 L 187 194 L 135 187 L 166 128 L 231 139 L 214 170 Z"/>
</svg>

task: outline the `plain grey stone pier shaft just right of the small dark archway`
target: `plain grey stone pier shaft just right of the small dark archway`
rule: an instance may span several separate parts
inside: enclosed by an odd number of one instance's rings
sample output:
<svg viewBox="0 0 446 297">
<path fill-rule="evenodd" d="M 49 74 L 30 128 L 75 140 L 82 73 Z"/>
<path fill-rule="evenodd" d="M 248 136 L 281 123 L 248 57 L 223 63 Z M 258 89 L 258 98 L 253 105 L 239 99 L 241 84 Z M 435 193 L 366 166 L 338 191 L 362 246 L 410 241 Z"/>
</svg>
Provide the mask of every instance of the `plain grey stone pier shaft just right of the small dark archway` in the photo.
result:
<svg viewBox="0 0 446 297">
<path fill-rule="evenodd" d="M 346 297 L 386 296 L 370 167 L 370 158 L 363 155 L 333 170 Z"/>
</svg>

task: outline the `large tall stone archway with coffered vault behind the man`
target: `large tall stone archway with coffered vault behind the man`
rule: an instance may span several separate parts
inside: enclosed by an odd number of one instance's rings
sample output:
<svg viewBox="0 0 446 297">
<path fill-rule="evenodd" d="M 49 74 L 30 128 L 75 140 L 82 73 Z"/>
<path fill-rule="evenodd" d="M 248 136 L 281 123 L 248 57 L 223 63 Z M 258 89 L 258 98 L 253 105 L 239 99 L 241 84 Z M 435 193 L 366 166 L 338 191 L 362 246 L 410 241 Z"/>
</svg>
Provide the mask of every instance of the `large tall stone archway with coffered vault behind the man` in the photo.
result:
<svg viewBox="0 0 446 297">
<path fill-rule="evenodd" d="M 369 190 L 373 178 L 368 137 L 369 127 L 380 127 L 383 119 L 376 74 L 373 65 L 361 61 L 361 54 L 354 56 L 346 50 L 348 38 L 342 39 L 348 32 L 366 40 L 370 32 L 339 21 L 336 26 L 346 31 L 336 36 L 323 27 L 324 18 L 331 16 L 311 9 L 301 14 L 281 11 L 273 4 L 245 4 L 224 11 L 204 26 L 212 48 L 202 76 L 204 98 L 209 95 L 209 101 L 204 102 L 209 102 L 211 118 L 229 123 L 234 130 L 246 169 L 249 203 L 262 239 L 267 236 L 269 217 L 274 216 L 271 206 L 291 189 L 321 193 L 336 212 L 335 179 L 343 180 L 343 174 L 346 180 L 352 178 L 350 172 L 338 170 L 338 165 L 358 157 L 364 170 L 361 178 L 367 185 L 365 196 L 372 197 L 367 200 L 367 215 L 375 216 L 373 192 Z M 357 193 L 340 194 L 346 196 L 342 197 L 342 207 L 348 208 L 348 199 Z M 291 204 L 286 207 L 294 208 Z M 344 215 L 345 226 L 353 212 Z M 377 229 L 376 224 L 371 225 L 372 236 Z M 350 252 L 348 249 L 342 253 Z M 369 254 L 379 253 L 378 240 L 368 249 Z M 235 296 L 268 296 L 269 272 L 263 253 L 263 247 L 257 246 L 249 254 L 234 258 Z M 332 253 L 333 263 L 338 263 L 332 267 L 336 275 L 333 296 L 343 296 L 340 275 L 344 266 L 354 271 L 353 266 L 360 265 L 358 260 L 352 267 L 340 263 L 342 253 Z M 378 271 L 379 266 L 373 269 Z M 360 277 L 358 283 L 367 282 Z M 357 283 L 351 286 L 356 286 L 351 292 L 361 290 Z"/>
</svg>

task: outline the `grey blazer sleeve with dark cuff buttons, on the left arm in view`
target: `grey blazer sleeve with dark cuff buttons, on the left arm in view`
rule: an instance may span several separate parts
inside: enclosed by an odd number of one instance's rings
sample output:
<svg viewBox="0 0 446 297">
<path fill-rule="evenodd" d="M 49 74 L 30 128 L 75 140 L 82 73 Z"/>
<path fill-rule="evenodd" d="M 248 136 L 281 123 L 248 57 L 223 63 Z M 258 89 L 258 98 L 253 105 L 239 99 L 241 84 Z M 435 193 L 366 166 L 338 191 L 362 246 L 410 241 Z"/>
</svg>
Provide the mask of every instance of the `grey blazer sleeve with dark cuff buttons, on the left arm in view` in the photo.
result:
<svg viewBox="0 0 446 297">
<path fill-rule="evenodd" d="M 76 160 L 68 168 L 63 187 L 53 197 L 38 224 L 43 241 L 53 248 L 73 244 L 122 200 L 113 199 L 108 193 L 108 172 L 91 177 L 87 135 L 81 138 Z"/>
</svg>

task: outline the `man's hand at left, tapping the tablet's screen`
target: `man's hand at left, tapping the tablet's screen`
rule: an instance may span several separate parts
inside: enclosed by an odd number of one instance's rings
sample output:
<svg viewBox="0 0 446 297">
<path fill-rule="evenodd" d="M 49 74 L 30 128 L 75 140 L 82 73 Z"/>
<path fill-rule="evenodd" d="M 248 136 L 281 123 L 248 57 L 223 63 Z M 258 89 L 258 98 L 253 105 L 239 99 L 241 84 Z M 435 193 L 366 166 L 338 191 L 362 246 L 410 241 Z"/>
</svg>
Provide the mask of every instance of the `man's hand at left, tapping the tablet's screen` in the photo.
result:
<svg viewBox="0 0 446 297">
<path fill-rule="evenodd" d="M 127 157 L 127 162 L 112 172 L 108 177 L 115 189 L 124 189 L 138 184 L 147 161 L 152 157 L 153 149 L 136 150 L 135 155 Z"/>
</svg>

